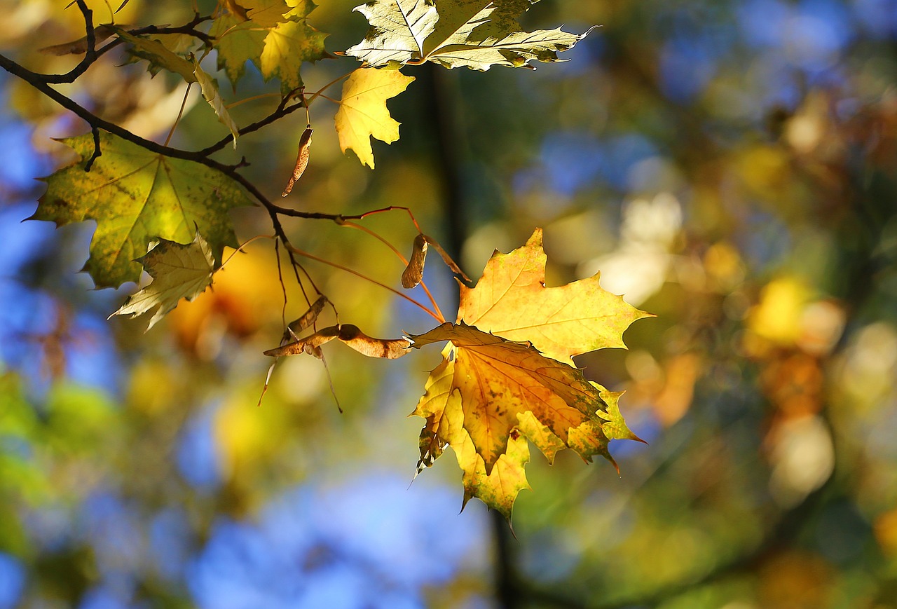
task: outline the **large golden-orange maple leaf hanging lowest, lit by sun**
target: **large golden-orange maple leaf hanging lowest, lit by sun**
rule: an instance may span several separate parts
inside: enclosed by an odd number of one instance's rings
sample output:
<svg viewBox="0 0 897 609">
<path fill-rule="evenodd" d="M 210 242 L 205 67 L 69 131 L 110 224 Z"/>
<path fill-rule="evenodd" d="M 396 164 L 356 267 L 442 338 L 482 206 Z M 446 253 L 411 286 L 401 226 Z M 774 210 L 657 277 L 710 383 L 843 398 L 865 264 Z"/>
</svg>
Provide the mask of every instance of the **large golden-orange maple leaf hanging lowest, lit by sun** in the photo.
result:
<svg viewBox="0 0 897 609">
<path fill-rule="evenodd" d="M 572 448 L 612 463 L 609 440 L 639 439 L 620 414 L 621 394 L 588 381 L 572 357 L 624 348 L 623 331 L 649 314 L 601 288 L 597 274 L 545 287 L 545 260 L 537 229 L 522 248 L 495 252 L 475 288 L 461 286 L 455 324 L 413 336 L 414 347 L 449 342 L 412 413 L 426 419 L 418 470 L 450 446 L 465 503 L 477 497 L 506 518 L 528 488 L 527 439 L 549 462 Z"/>
</svg>

